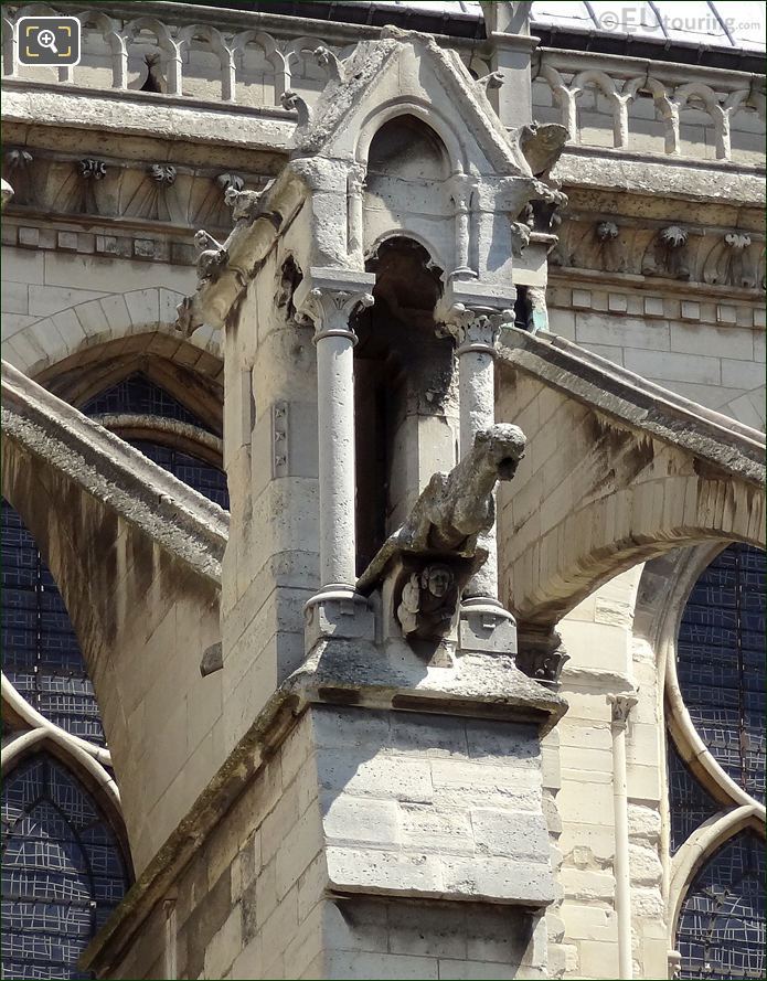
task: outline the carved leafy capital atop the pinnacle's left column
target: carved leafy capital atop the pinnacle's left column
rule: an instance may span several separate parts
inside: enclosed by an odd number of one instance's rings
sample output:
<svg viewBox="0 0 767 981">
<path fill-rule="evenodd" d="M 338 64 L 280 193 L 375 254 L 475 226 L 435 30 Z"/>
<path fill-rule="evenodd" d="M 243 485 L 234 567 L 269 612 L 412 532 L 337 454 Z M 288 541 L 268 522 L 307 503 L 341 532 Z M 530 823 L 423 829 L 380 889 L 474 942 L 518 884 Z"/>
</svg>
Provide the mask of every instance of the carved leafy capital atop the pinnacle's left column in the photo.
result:
<svg viewBox="0 0 767 981">
<path fill-rule="evenodd" d="M 375 276 L 340 269 L 311 269 L 296 290 L 297 313 L 315 327 L 315 343 L 327 337 L 344 337 L 353 344 L 352 314 L 373 305 Z"/>
</svg>

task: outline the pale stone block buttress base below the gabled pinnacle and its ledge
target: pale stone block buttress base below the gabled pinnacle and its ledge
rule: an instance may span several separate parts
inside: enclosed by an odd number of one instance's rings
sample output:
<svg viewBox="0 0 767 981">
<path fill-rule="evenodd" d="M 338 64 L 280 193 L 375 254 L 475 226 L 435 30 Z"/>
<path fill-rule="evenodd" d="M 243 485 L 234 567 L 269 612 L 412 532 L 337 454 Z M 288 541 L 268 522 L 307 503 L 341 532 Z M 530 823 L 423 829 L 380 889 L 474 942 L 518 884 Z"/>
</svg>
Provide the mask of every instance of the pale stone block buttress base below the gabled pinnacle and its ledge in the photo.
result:
<svg viewBox="0 0 767 981">
<path fill-rule="evenodd" d="M 104 975 L 547 978 L 547 860 L 534 727 L 316 706 Z"/>
</svg>

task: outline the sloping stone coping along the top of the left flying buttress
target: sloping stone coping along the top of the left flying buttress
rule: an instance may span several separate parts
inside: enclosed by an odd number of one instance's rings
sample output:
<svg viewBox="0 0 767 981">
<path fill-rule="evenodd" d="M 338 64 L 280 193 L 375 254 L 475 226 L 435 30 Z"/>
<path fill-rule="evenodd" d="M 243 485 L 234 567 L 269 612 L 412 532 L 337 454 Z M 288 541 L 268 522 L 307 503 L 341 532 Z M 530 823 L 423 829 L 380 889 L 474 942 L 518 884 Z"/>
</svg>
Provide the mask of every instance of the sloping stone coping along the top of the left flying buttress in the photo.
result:
<svg viewBox="0 0 767 981">
<path fill-rule="evenodd" d="M 228 514 L 2 362 L 3 439 L 78 484 L 216 586 Z"/>
</svg>

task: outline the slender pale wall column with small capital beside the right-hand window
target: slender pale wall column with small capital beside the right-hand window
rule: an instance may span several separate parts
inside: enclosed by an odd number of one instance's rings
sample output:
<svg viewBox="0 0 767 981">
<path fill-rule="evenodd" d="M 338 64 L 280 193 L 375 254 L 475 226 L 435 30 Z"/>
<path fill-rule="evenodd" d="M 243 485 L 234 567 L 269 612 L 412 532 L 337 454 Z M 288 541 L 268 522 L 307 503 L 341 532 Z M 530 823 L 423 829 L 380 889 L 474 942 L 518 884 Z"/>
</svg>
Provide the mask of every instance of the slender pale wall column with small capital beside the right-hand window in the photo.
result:
<svg viewBox="0 0 767 981">
<path fill-rule="evenodd" d="M 637 704 L 633 693 L 608 695 L 612 716 L 612 806 L 615 821 L 615 911 L 618 920 L 618 977 L 633 975 L 631 960 L 631 871 L 629 868 L 626 726 Z"/>
</svg>

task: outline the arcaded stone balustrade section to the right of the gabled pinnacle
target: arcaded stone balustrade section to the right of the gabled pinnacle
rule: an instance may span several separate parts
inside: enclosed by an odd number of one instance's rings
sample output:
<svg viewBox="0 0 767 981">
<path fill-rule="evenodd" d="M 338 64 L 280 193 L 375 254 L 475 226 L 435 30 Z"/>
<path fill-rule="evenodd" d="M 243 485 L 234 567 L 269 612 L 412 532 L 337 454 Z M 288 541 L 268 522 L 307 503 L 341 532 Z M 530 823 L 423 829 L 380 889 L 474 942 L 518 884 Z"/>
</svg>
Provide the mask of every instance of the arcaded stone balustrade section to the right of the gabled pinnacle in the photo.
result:
<svg viewBox="0 0 767 981">
<path fill-rule="evenodd" d="M 589 113 L 597 129 L 611 131 L 611 148 L 625 152 L 646 152 L 638 137 L 647 122 L 657 124 L 662 152 L 671 157 L 685 156 L 685 127 L 690 127 L 699 137 L 701 130 L 705 131 L 716 160 L 737 158 L 733 131 L 739 114 L 752 117 L 745 122 L 745 131 L 755 134 L 754 142 L 763 139 L 764 78 L 745 72 L 542 50 L 533 64 L 533 78 L 551 89 L 554 114 L 547 121 L 567 127 L 574 143 L 592 142 L 584 135 Z M 585 105 L 589 90 L 595 94 L 596 106 Z M 641 102 L 652 105 L 650 118 L 647 113 L 640 115 Z M 755 125 L 757 119 L 761 126 Z"/>
</svg>

